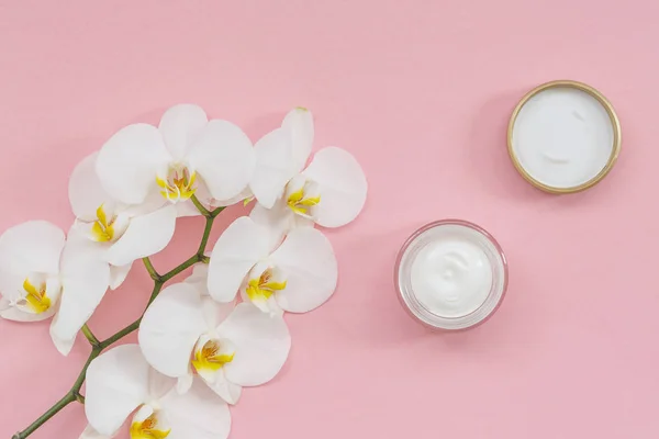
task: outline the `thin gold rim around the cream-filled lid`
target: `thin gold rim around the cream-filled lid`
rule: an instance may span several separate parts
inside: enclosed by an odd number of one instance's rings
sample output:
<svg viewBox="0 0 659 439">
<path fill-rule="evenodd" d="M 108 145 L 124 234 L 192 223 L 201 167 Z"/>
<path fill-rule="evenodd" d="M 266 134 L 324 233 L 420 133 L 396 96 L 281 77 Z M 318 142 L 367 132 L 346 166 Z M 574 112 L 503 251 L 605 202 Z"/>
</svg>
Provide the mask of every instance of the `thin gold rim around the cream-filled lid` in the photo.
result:
<svg viewBox="0 0 659 439">
<path fill-rule="evenodd" d="M 602 104 L 602 106 L 604 106 L 604 109 L 606 110 L 606 113 L 608 114 L 608 119 L 611 120 L 611 125 L 613 126 L 613 149 L 611 151 L 611 156 L 608 157 L 608 161 L 606 162 L 604 168 L 602 168 L 602 170 L 595 177 L 593 177 L 585 183 L 581 183 L 579 185 L 571 187 L 571 188 L 555 188 L 555 187 L 547 185 L 547 184 L 534 179 L 522 167 L 522 164 L 520 164 L 517 155 L 513 150 L 513 127 L 515 126 L 515 122 L 517 120 L 517 115 L 520 114 L 520 111 L 526 104 L 526 102 L 528 102 L 528 100 L 530 98 L 533 98 L 534 95 L 536 95 L 547 89 L 551 89 L 551 88 L 573 88 L 573 89 L 581 90 L 581 91 L 589 93 L 590 95 L 595 98 L 597 100 L 597 102 L 600 102 Z M 593 185 L 597 184 L 604 177 L 606 177 L 606 175 L 611 171 L 611 169 L 615 165 L 618 154 L 621 153 L 621 136 L 622 136 L 621 122 L 618 121 L 617 114 L 615 114 L 615 110 L 613 110 L 613 105 L 611 104 L 611 102 L 608 102 L 608 100 L 606 98 L 604 98 L 604 95 L 602 93 L 600 93 L 594 88 L 592 88 L 585 83 L 582 83 L 582 82 L 560 80 L 560 81 L 551 81 L 551 82 L 543 83 L 541 86 L 538 86 L 535 89 L 530 90 L 528 93 L 526 93 L 524 95 L 524 98 L 522 98 L 522 100 L 520 101 L 517 106 L 515 106 L 515 110 L 513 111 L 513 114 L 511 115 L 511 121 L 509 123 L 507 148 L 509 148 L 509 155 L 511 156 L 511 160 L 513 161 L 515 169 L 517 169 L 517 172 L 520 172 L 520 175 L 522 177 L 524 177 L 524 179 L 526 181 L 528 181 L 530 184 L 533 184 L 534 187 L 536 187 L 545 192 L 549 192 L 549 193 L 574 193 L 574 192 L 581 192 L 589 188 L 592 188 Z"/>
</svg>

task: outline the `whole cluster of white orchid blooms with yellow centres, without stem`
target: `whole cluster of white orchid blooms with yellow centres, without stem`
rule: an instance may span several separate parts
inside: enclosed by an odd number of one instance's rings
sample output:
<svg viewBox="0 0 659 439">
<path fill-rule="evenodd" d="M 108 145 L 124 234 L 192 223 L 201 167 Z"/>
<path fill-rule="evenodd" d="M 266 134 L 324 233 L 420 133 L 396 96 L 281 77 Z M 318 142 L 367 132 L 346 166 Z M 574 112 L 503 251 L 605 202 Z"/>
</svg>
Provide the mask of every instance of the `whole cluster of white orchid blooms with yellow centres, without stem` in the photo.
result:
<svg viewBox="0 0 659 439">
<path fill-rule="evenodd" d="M 316 308 L 337 283 L 314 225 L 345 225 L 366 201 L 355 158 L 328 147 L 310 160 L 313 137 L 302 108 L 253 145 L 236 125 L 176 105 L 157 127 L 126 126 L 76 167 L 68 233 L 34 221 L 0 236 L 0 316 L 53 317 L 51 337 L 67 354 L 105 292 L 168 245 L 177 217 L 255 202 L 188 279 L 155 291 L 138 345 L 100 345 L 81 438 L 111 438 L 130 419 L 132 439 L 223 439 L 242 389 L 279 372 L 291 346 L 284 312 Z"/>
</svg>

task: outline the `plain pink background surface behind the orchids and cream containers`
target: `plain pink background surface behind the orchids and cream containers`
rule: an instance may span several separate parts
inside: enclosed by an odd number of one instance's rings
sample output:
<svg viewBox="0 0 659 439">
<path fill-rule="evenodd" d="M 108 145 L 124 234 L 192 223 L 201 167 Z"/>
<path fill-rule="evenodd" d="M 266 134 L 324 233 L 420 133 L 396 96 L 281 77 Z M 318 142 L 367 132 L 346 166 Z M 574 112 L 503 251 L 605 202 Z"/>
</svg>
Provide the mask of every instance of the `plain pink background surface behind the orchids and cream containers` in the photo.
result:
<svg viewBox="0 0 659 439">
<path fill-rule="evenodd" d="M 652 0 L 2 0 L 0 230 L 68 227 L 75 164 L 174 103 L 255 140 L 304 105 L 316 148 L 362 164 L 369 199 L 327 230 L 340 285 L 289 316 L 289 362 L 245 392 L 232 438 L 656 438 L 658 19 Z M 513 106 L 552 79 L 599 88 L 623 126 L 618 164 L 581 194 L 533 189 L 506 155 Z M 392 284 L 405 237 L 445 217 L 490 230 L 511 268 L 494 318 L 457 335 L 415 324 Z M 161 271 L 197 246 L 201 221 L 182 225 Z M 136 266 L 90 326 L 123 327 L 148 290 Z M 60 357 L 47 324 L 0 334 L 7 439 L 70 387 L 89 347 Z M 71 405 L 33 437 L 76 439 L 85 424 Z"/>
</svg>

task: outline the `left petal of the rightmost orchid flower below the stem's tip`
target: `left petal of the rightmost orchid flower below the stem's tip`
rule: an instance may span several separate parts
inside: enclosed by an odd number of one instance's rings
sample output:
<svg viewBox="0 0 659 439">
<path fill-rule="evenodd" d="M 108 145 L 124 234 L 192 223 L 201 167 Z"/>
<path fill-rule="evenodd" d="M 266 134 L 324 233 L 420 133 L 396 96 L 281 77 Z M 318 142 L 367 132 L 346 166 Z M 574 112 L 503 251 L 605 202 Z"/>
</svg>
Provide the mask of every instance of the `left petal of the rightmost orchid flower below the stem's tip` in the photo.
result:
<svg viewBox="0 0 659 439">
<path fill-rule="evenodd" d="M 234 221 L 220 236 L 209 263 L 209 292 L 217 302 L 236 296 L 252 267 L 269 254 L 269 233 L 248 216 Z"/>
</svg>

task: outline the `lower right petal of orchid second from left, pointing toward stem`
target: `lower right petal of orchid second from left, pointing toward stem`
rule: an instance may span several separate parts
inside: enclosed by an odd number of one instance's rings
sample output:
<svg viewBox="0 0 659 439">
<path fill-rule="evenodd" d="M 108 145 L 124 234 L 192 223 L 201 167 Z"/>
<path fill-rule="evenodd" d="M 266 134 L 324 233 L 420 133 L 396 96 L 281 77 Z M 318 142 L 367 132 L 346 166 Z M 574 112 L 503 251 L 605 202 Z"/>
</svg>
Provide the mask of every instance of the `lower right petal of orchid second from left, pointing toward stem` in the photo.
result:
<svg viewBox="0 0 659 439">
<path fill-rule="evenodd" d="M 163 250 L 174 236 L 176 207 L 170 204 L 131 219 L 123 236 L 108 249 L 108 261 L 124 266 Z"/>
</svg>

